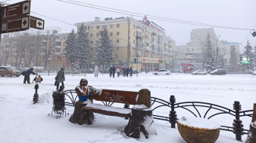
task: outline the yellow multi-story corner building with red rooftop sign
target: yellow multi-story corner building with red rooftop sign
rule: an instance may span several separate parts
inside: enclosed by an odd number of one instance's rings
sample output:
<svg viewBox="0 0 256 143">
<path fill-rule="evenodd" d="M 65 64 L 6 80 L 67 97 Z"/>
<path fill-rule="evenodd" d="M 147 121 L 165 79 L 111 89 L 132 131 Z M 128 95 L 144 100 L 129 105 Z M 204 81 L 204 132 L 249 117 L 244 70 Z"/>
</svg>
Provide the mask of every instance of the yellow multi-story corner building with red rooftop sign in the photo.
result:
<svg viewBox="0 0 256 143">
<path fill-rule="evenodd" d="M 89 67 L 97 64 L 95 54 L 99 42 L 99 33 L 108 30 L 112 44 L 113 61 L 109 65 L 132 66 L 133 69 L 170 68 L 175 41 L 165 35 L 164 29 L 145 17 L 142 21 L 131 17 L 105 18 L 86 23 L 76 23 L 77 29 L 85 26 L 91 41 Z M 134 61 L 137 61 L 134 63 Z M 101 67 L 106 68 L 106 67 Z"/>
</svg>

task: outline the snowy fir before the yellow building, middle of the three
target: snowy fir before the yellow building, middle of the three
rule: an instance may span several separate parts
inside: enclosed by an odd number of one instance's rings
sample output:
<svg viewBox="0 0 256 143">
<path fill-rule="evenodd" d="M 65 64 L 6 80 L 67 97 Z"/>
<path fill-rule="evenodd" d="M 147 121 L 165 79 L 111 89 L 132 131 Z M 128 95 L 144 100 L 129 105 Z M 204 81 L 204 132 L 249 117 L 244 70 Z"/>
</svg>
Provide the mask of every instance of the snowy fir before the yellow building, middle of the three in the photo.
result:
<svg viewBox="0 0 256 143">
<path fill-rule="evenodd" d="M 89 41 L 89 33 L 86 32 L 85 27 L 80 26 L 77 32 L 77 57 L 80 60 L 80 68 L 83 68 L 83 65 L 89 63 L 89 48 L 90 48 L 90 41 Z"/>
</svg>

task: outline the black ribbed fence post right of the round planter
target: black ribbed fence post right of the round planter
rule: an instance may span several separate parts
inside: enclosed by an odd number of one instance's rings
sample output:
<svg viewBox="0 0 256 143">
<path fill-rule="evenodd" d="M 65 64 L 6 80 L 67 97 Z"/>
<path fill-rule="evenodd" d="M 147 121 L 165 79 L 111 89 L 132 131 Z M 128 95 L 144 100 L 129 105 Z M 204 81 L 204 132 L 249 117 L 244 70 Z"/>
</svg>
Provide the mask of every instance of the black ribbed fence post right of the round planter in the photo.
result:
<svg viewBox="0 0 256 143">
<path fill-rule="evenodd" d="M 240 102 L 235 101 L 233 104 L 233 109 L 236 111 L 236 119 L 233 120 L 233 133 L 236 134 L 236 140 L 242 141 L 242 135 L 244 135 L 244 125 L 242 120 L 239 118 L 239 111 L 241 110 Z"/>
</svg>

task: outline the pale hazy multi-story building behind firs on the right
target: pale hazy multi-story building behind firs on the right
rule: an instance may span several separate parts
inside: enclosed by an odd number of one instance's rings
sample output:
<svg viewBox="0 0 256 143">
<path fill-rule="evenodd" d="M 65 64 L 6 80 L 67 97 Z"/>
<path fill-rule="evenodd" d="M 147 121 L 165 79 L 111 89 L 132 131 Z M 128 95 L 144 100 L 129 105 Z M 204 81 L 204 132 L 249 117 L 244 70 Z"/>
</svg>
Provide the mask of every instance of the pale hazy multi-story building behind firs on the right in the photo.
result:
<svg viewBox="0 0 256 143">
<path fill-rule="evenodd" d="M 190 63 L 195 66 L 195 69 L 201 69 L 204 58 L 204 47 L 207 35 L 210 35 L 214 56 L 222 58 L 225 63 L 225 68 L 230 64 L 231 50 L 235 49 L 236 59 L 239 59 L 239 44 L 235 42 L 219 41 L 219 37 L 214 32 L 214 29 L 193 29 L 191 32 L 191 40 L 184 46 L 176 46 L 175 61 L 181 63 Z M 239 61 L 237 60 L 237 63 Z M 180 68 L 179 68 L 180 70 Z"/>
</svg>

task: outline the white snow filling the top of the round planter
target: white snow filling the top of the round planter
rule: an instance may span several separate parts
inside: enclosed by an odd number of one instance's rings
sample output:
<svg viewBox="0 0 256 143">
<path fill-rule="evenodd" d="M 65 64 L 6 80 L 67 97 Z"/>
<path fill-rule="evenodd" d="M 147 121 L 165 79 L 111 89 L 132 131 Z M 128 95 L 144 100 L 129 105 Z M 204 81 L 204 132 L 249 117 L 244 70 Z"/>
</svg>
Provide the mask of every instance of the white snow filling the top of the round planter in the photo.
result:
<svg viewBox="0 0 256 143">
<path fill-rule="evenodd" d="M 201 117 L 181 117 L 179 123 L 199 129 L 219 129 L 220 123 Z"/>
</svg>

